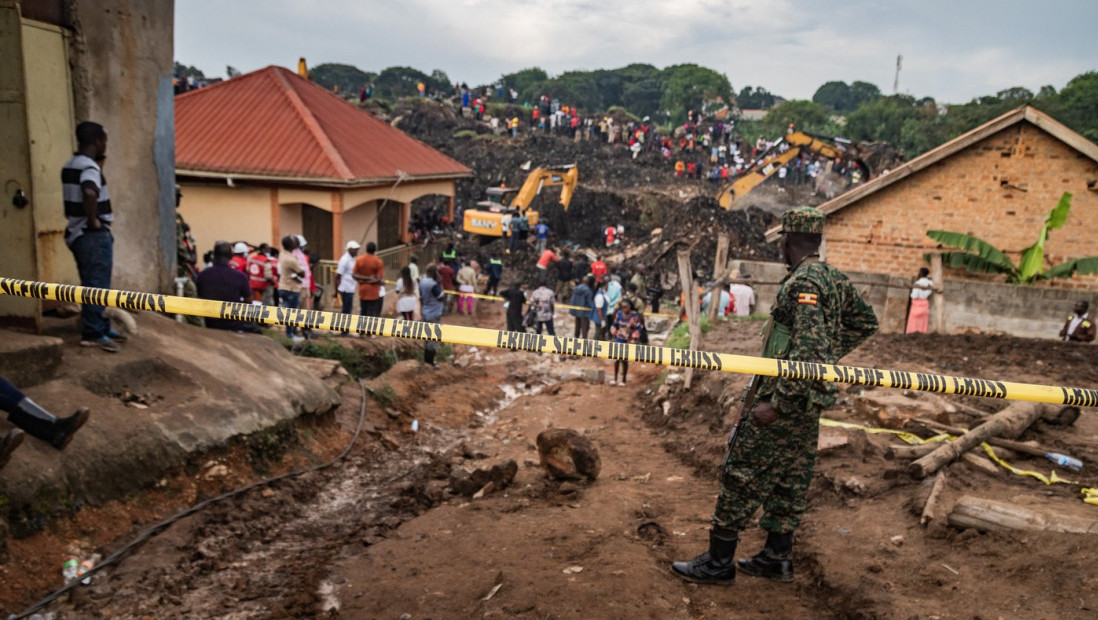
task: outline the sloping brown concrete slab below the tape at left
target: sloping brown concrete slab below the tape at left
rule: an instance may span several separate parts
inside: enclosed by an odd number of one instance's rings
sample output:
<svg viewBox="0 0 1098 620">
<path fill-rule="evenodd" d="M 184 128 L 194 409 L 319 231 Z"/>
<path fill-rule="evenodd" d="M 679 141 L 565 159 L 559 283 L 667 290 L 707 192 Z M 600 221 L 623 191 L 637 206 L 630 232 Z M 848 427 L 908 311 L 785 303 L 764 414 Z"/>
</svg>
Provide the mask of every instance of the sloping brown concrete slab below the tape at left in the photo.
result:
<svg viewBox="0 0 1098 620">
<path fill-rule="evenodd" d="M 56 415 L 88 406 L 91 418 L 64 452 L 27 438 L 0 472 L 0 516 L 13 532 L 81 503 L 126 497 L 233 438 L 339 405 L 335 391 L 266 336 L 150 313 L 136 318 L 139 334 L 119 353 L 81 348 L 78 332 L 66 335 L 57 376 L 24 390 Z M 0 422 L 0 432 L 8 428 Z"/>
</svg>

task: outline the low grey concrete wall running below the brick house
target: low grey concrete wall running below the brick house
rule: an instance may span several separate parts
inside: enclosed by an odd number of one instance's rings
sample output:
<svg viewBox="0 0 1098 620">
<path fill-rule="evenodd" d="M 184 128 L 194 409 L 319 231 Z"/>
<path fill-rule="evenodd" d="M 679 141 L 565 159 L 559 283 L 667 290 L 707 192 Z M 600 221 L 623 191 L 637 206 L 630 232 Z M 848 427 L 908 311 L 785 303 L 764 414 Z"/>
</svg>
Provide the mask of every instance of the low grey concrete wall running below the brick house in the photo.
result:
<svg viewBox="0 0 1098 620">
<path fill-rule="evenodd" d="M 777 282 L 787 273 L 784 263 L 731 261 L 733 269 L 755 281 L 757 313 L 769 313 L 777 295 Z M 903 332 L 907 324 L 909 279 L 882 273 L 843 270 L 873 306 L 884 332 Z M 1023 338 L 1057 338 L 1076 301 L 1098 307 L 1098 293 L 1046 286 L 1020 286 L 999 282 L 946 279 L 945 332 L 983 331 Z M 933 325 L 933 316 L 931 316 Z"/>
</svg>

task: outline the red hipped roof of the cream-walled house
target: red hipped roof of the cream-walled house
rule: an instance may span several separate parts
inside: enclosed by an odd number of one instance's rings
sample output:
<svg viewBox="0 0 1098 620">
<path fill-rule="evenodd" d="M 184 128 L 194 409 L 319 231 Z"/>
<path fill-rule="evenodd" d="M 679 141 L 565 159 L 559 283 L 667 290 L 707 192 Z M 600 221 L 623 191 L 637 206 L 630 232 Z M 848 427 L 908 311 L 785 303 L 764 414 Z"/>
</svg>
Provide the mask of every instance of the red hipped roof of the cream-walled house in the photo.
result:
<svg viewBox="0 0 1098 620">
<path fill-rule="evenodd" d="M 176 97 L 176 168 L 367 184 L 472 170 L 326 89 L 270 66 Z"/>
</svg>

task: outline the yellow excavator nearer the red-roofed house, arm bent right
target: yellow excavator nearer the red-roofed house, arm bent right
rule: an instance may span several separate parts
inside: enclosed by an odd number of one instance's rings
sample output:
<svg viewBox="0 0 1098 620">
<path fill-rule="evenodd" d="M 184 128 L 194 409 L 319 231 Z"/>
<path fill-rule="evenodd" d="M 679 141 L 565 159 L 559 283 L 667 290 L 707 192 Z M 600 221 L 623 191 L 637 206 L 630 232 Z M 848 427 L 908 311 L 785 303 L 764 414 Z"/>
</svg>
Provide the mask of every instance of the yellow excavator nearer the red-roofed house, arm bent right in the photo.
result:
<svg viewBox="0 0 1098 620">
<path fill-rule="evenodd" d="M 530 204 L 541 193 L 541 188 L 560 185 L 560 204 L 568 211 L 578 180 L 575 164 L 535 168 L 522 188 L 489 188 L 485 192 L 488 200 L 478 202 L 477 208 L 466 211 L 462 227 L 466 233 L 502 237 L 505 233 L 504 217 L 525 213 L 533 228 L 538 223 L 538 212 L 530 208 Z"/>
</svg>

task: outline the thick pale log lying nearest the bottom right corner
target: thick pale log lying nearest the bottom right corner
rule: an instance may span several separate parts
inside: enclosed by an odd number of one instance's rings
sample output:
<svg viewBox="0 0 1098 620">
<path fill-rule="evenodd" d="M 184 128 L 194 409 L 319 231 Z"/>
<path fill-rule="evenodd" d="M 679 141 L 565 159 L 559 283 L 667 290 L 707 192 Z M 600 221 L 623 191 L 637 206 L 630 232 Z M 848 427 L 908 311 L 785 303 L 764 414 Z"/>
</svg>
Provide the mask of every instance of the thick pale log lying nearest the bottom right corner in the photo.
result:
<svg viewBox="0 0 1098 620">
<path fill-rule="evenodd" d="M 976 528 L 983 531 L 1026 530 L 1098 534 L 1098 517 L 1074 517 L 1030 510 L 1013 504 L 970 495 L 961 497 L 953 505 L 949 522 L 959 528 Z"/>
</svg>

